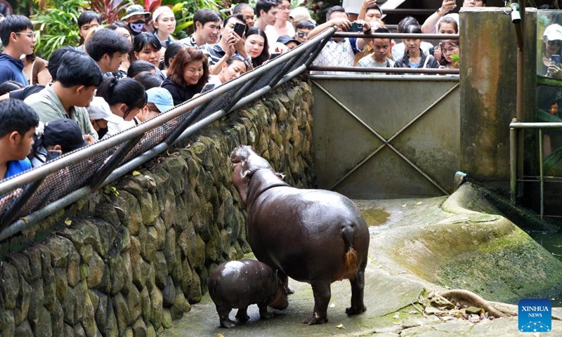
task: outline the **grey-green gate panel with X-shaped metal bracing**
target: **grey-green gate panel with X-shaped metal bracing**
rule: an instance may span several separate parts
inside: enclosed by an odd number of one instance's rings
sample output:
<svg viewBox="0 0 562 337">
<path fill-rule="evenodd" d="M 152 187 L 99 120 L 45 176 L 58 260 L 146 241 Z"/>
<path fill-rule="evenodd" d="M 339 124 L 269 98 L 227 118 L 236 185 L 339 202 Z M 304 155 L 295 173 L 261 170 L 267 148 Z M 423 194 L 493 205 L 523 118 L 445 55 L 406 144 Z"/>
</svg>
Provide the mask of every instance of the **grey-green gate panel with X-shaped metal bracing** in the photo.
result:
<svg viewBox="0 0 562 337">
<path fill-rule="evenodd" d="M 313 94 L 318 187 L 355 199 L 454 190 L 458 78 L 313 77 Z"/>
</svg>

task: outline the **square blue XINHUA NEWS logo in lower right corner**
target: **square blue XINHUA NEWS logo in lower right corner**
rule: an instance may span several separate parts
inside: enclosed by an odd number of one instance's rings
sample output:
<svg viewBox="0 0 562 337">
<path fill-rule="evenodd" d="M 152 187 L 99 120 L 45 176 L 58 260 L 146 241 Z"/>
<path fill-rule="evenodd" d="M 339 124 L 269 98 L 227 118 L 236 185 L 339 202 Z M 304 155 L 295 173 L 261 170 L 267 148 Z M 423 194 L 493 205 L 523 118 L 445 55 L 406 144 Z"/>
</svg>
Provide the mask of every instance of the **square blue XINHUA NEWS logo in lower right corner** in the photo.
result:
<svg viewBox="0 0 562 337">
<path fill-rule="evenodd" d="M 552 329 L 550 300 L 525 298 L 519 301 L 519 331 L 549 332 Z"/>
</svg>

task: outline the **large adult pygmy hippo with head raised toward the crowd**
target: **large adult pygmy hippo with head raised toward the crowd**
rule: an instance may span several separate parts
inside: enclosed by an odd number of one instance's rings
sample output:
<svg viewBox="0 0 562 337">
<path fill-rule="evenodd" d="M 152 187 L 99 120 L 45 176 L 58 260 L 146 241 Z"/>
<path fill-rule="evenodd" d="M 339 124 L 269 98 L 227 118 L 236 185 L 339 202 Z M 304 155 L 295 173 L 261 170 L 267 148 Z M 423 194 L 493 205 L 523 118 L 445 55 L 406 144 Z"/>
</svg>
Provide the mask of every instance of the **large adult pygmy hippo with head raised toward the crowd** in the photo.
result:
<svg viewBox="0 0 562 337">
<path fill-rule="evenodd" d="M 285 284 L 289 276 L 312 285 L 314 312 L 304 322 L 327 322 L 330 286 L 341 279 L 351 283 L 346 313 L 364 312 L 369 230 L 355 204 L 336 192 L 290 187 L 249 146 L 237 147 L 230 161 L 256 258 L 277 270 Z"/>
</svg>

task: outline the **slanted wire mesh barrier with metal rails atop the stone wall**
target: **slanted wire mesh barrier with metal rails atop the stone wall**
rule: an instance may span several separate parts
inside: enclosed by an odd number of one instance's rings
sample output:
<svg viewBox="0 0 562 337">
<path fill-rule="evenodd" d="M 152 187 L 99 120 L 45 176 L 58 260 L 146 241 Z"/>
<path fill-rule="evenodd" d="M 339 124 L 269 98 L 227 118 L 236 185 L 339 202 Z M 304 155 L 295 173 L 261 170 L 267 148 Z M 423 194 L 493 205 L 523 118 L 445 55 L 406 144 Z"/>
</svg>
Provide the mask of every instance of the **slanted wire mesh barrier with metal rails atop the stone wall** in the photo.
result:
<svg viewBox="0 0 562 337">
<path fill-rule="evenodd" d="M 335 29 L 145 123 L 0 183 L 0 241 L 85 197 L 272 88 L 296 77 Z"/>
</svg>

